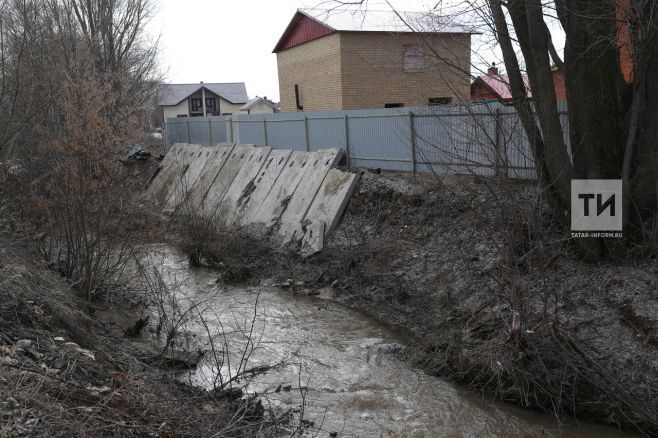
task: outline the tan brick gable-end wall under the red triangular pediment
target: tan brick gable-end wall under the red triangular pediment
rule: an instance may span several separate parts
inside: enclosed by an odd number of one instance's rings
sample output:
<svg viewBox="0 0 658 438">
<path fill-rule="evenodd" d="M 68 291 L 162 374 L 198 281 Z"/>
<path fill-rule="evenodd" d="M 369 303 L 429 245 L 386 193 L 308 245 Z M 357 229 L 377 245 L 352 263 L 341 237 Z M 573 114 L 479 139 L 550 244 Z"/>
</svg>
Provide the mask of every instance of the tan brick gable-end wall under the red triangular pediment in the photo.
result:
<svg viewBox="0 0 658 438">
<path fill-rule="evenodd" d="M 281 111 L 298 111 L 295 84 L 304 111 L 342 108 L 340 34 L 277 53 Z"/>
</svg>

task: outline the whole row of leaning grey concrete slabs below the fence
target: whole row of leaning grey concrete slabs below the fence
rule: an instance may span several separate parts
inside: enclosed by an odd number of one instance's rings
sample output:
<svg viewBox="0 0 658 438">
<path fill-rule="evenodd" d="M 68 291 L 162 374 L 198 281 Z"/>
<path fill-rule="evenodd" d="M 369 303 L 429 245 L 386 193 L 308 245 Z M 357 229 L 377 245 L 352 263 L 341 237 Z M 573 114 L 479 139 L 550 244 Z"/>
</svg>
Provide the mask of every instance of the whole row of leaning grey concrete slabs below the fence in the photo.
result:
<svg viewBox="0 0 658 438">
<path fill-rule="evenodd" d="M 358 176 L 334 167 L 340 149 L 314 152 L 254 145 L 176 144 L 146 196 L 165 212 L 203 215 L 218 227 L 248 227 L 281 243 L 322 248 L 347 206 Z"/>
</svg>

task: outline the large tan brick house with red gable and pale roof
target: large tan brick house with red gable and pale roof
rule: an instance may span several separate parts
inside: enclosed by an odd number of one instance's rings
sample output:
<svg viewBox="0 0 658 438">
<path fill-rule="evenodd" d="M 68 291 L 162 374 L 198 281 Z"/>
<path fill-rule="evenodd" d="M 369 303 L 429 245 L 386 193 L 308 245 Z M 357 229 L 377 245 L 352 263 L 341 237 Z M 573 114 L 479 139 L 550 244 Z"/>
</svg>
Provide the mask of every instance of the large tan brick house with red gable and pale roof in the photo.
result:
<svg viewBox="0 0 658 438">
<path fill-rule="evenodd" d="M 281 111 L 468 101 L 471 32 L 402 14 L 297 10 L 273 50 Z"/>
</svg>

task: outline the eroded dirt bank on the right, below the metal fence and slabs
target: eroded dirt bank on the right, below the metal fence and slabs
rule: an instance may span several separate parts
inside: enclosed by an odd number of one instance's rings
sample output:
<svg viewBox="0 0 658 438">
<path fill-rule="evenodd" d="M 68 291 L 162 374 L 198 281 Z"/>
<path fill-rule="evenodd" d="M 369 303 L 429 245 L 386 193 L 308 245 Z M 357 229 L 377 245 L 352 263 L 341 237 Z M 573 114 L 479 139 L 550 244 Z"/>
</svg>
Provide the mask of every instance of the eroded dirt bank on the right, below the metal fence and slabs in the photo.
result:
<svg viewBox="0 0 658 438">
<path fill-rule="evenodd" d="M 408 329 L 417 341 L 409 360 L 436 375 L 657 434 L 653 250 L 579 261 L 555 220 L 564 212 L 521 184 L 490 184 L 365 173 L 323 253 L 302 260 L 225 234 L 210 258 L 227 281 L 271 276 Z"/>
</svg>

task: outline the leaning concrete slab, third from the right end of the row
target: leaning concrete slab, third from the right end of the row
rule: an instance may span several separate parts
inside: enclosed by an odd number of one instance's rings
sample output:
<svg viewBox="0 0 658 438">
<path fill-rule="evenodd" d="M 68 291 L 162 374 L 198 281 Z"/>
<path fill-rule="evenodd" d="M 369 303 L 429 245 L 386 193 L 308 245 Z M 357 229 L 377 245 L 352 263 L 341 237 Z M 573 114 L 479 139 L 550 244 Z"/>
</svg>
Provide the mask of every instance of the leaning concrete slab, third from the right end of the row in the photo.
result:
<svg viewBox="0 0 658 438">
<path fill-rule="evenodd" d="M 255 223 L 271 227 L 279 222 L 293 193 L 304 177 L 308 164 L 313 163 L 317 157 L 317 152 L 294 151 L 290 154 L 290 158 L 281 170 L 274 186 L 258 208 L 254 217 Z"/>
</svg>

